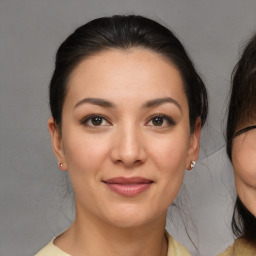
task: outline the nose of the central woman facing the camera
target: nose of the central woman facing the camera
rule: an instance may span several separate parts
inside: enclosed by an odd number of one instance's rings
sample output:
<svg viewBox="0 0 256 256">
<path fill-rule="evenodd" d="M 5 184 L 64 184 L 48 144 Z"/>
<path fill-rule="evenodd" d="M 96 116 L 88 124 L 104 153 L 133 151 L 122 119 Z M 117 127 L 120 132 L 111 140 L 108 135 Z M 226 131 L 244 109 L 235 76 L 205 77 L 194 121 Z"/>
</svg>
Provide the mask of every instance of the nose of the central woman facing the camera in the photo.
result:
<svg viewBox="0 0 256 256">
<path fill-rule="evenodd" d="M 136 127 L 119 128 L 113 138 L 111 160 L 126 168 L 139 166 L 146 161 L 143 136 Z"/>
</svg>

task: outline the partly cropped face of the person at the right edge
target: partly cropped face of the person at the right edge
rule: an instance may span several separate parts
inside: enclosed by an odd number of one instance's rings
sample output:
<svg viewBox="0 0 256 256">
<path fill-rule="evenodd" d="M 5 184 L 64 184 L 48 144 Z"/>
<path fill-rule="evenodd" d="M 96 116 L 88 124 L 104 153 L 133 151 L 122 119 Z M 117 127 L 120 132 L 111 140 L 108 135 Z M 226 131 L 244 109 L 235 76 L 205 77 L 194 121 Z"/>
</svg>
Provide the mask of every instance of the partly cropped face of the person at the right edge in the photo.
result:
<svg viewBox="0 0 256 256">
<path fill-rule="evenodd" d="M 256 129 L 234 138 L 232 165 L 237 193 L 246 208 L 256 217 Z"/>
</svg>

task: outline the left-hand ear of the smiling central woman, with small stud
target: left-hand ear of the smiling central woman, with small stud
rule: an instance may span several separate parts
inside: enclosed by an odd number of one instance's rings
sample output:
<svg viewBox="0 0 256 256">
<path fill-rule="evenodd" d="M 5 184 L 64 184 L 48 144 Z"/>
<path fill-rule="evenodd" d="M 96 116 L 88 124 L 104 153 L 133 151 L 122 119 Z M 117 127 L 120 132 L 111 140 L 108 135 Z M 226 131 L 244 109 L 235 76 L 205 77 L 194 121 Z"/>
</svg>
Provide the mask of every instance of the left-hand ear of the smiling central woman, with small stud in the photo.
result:
<svg viewBox="0 0 256 256">
<path fill-rule="evenodd" d="M 65 171 L 67 169 L 67 165 L 62 145 L 62 137 L 59 127 L 52 117 L 48 120 L 48 129 L 51 135 L 52 149 L 58 159 L 58 166 L 61 170 Z"/>
</svg>

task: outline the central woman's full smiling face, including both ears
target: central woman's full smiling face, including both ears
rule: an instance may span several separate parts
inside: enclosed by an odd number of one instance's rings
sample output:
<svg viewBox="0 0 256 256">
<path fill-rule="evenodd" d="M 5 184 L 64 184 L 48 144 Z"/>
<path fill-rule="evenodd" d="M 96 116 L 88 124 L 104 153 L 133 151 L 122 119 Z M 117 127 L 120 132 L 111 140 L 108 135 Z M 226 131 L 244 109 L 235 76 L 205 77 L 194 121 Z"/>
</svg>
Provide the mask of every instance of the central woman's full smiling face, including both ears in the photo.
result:
<svg viewBox="0 0 256 256">
<path fill-rule="evenodd" d="M 145 49 L 109 50 L 72 72 L 62 133 L 52 144 L 76 195 L 77 216 L 119 227 L 165 220 L 199 148 L 182 78 Z"/>
</svg>

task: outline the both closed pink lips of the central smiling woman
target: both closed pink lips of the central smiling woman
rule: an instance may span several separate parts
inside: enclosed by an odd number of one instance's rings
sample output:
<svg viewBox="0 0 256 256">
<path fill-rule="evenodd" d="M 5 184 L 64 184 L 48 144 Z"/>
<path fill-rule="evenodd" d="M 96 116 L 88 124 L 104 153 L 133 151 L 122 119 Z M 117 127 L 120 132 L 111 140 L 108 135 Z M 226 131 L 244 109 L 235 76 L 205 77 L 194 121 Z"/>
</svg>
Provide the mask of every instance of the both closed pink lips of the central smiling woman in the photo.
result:
<svg viewBox="0 0 256 256">
<path fill-rule="evenodd" d="M 152 180 L 142 177 L 115 177 L 103 181 L 107 187 L 115 193 L 132 197 L 137 196 L 147 190 L 152 184 Z"/>
</svg>

